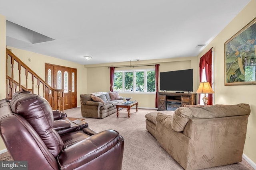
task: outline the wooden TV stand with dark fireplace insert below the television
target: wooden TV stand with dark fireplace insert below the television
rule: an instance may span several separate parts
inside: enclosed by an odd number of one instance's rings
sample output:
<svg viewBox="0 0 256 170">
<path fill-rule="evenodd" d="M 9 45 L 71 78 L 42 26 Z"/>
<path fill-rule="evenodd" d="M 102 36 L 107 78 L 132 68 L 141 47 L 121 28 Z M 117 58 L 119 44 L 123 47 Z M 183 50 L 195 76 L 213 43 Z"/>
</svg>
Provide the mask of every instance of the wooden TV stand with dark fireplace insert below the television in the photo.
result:
<svg viewBox="0 0 256 170">
<path fill-rule="evenodd" d="M 176 110 L 184 105 L 195 105 L 195 93 L 168 93 L 157 92 L 158 110 Z"/>
</svg>

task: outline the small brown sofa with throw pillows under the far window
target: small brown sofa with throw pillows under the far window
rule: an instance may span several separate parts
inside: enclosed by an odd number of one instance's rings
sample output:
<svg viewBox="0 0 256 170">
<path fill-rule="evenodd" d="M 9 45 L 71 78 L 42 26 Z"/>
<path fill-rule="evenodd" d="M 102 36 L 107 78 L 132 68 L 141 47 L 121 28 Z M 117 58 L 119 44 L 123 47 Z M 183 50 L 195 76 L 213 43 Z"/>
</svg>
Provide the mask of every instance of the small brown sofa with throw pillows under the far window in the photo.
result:
<svg viewBox="0 0 256 170">
<path fill-rule="evenodd" d="M 103 102 L 94 101 L 91 97 L 94 95 Z M 80 101 L 83 117 L 104 118 L 115 113 L 116 104 L 124 102 L 124 98 L 122 96 L 111 98 L 110 92 L 97 92 L 93 94 L 80 94 Z"/>
</svg>

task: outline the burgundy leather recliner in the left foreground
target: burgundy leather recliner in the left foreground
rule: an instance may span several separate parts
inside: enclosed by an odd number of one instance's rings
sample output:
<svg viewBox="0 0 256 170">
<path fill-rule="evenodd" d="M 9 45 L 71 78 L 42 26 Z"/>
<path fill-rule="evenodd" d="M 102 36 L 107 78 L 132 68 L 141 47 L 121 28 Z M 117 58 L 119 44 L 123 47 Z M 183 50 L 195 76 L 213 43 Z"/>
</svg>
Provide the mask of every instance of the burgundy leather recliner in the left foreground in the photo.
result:
<svg viewBox="0 0 256 170">
<path fill-rule="evenodd" d="M 50 104 L 41 96 L 17 92 L 0 100 L 0 135 L 14 160 L 29 170 L 121 170 L 124 139 L 117 131 L 88 127 L 59 135 Z"/>
</svg>

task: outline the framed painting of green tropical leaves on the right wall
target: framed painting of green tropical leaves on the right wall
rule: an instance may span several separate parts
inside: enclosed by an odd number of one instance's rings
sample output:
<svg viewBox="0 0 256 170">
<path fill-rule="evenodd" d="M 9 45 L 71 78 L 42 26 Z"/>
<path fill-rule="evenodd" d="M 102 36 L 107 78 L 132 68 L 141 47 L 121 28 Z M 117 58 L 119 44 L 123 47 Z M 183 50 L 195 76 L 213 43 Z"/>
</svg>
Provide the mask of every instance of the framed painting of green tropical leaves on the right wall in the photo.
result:
<svg viewBox="0 0 256 170">
<path fill-rule="evenodd" d="M 256 18 L 224 43 L 225 86 L 256 84 Z"/>
</svg>

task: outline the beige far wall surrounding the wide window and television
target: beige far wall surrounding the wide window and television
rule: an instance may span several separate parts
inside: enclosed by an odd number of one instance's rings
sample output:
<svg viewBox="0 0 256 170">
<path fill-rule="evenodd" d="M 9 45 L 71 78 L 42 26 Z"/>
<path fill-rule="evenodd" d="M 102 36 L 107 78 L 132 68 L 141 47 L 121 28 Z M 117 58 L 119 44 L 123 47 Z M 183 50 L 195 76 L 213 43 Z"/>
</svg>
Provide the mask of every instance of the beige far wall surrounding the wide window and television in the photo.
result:
<svg viewBox="0 0 256 170">
<path fill-rule="evenodd" d="M 197 57 L 186 57 L 186 58 L 176 58 L 176 59 L 162 59 L 162 60 L 147 60 L 147 61 L 135 61 L 132 62 L 132 66 L 136 67 L 125 67 L 125 68 L 115 68 L 115 70 L 136 70 L 136 69 L 146 69 L 153 68 L 155 66 L 143 66 L 139 65 L 154 65 L 160 64 L 159 72 L 173 71 L 173 70 L 185 70 L 193 68 L 193 91 L 195 92 L 198 87 L 198 66 Z M 130 66 L 130 62 L 121 63 L 108 63 L 108 64 L 92 64 L 86 65 L 87 67 L 87 90 L 88 93 L 93 92 L 108 92 L 110 90 L 110 70 L 109 66 Z M 132 100 L 139 102 L 139 107 L 144 108 L 155 108 L 155 93 L 145 94 L 145 93 L 120 93 L 123 97 L 132 97 Z"/>
</svg>

